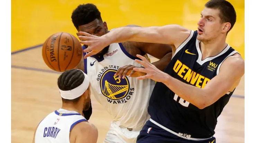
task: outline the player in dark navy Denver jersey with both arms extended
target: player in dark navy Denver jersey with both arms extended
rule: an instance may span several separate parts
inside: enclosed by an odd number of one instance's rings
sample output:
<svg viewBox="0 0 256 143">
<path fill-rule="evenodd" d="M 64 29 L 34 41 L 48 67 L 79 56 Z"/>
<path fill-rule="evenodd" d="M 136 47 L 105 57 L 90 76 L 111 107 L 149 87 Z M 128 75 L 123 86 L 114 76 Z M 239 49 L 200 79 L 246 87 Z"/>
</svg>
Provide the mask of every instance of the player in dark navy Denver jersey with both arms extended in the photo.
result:
<svg viewBox="0 0 256 143">
<path fill-rule="evenodd" d="M 110 43 L 125 41 L 174 45 L 173 57 L 164 72 L 143 61 L 146 73 L 138 79 L 158 81 L 149 101 L 151 118 L 138 136 L 138 143 L 215 143 L 217 118 L 244 75 L 244 60 L 226 43 L 226 36 L 236 22 L 236 12 L 225 0 L 205 4 L 193 31 L 180 25 L 162 27 L 117 28 L 101 37 L 80 32 L 82 44 L 88 45 L 85 58 Z M 91 52 L 90 52 L 91 51 Z"/>
</svg>

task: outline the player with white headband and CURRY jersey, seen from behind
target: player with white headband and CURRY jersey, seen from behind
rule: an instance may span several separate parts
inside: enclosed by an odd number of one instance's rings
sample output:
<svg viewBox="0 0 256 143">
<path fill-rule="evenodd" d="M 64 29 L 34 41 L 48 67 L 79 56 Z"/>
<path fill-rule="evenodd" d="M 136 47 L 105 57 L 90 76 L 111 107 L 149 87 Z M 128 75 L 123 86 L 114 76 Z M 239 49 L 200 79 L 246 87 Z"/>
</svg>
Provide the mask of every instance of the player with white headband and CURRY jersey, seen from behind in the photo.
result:
<svg viewBox="0 0 256 143">
<path fill-rule="evenodd" d="M 58 78 L 62 107 L 37 126 L 33 143 L 96 143 L 97 128 L 81 114 L 90 107 L 90 81 L 79 69 L 67 70 Z"/>
</svg>

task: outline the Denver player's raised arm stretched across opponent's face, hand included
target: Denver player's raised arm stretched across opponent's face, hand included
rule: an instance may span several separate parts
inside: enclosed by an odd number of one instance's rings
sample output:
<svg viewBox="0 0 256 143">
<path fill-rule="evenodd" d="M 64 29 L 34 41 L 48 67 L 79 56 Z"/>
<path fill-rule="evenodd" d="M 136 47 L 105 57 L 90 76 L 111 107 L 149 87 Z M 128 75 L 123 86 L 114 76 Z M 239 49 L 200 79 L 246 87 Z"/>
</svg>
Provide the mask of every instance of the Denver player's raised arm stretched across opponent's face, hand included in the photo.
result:
<svg viewBox="0 0 256 143">
<path fill-rule="evenodd" d="M 88 48 L 84 52 L 89 52 L 84 58 L 97 54 L 104 47 L 111 43 L 121 43 L 126 41 L 168 44 L 178 47 L 189 37 L 191 30 L 183 28 L 180 25 L 165 25 L 161 27 L 152 26 L 142 27 L 121 27 L 110 31 L 99 37 L 89 33 L 79 32 L 85 36 L 79 36 L 80 41 Z"/>
</svg>

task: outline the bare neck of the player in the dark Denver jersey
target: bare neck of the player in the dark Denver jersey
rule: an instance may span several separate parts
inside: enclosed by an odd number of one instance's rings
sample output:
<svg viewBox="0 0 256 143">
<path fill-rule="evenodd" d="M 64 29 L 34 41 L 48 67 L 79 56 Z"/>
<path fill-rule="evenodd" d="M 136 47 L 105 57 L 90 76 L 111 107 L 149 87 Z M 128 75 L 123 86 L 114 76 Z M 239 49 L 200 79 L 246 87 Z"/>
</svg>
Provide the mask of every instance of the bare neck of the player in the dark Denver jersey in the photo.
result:
<svg viewBox="0 0 256 143">
<path fill-rule="evenodd" d="M 207 57 L 213 57 L 218 55 L 227 47 L 226 38 L 218 37 L 217 39 L 200 42 L 200 50 L 202 53 L 202 60 Z"/>
</svg>

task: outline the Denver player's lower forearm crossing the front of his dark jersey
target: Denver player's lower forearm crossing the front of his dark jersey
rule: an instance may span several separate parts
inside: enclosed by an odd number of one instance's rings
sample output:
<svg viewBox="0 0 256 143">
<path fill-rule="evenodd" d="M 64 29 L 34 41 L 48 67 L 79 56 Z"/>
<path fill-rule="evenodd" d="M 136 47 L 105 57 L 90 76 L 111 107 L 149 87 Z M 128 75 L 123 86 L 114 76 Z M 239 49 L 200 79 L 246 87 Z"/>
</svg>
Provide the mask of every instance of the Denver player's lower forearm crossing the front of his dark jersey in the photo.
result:
<svg viewBox="0 0 256 143">
<path fill-rule="evenodd" d="M 210 105 L 207 95 L 209 95 L 208 90 L 201 89 L 189 84 L 185 84 L 171 76 L 164 78 L 163 83 L 171 89 L 175 94 L 177 94 L 182 99 L 190 102 L 199 109 L 203 109 Z"/>
</svg>

